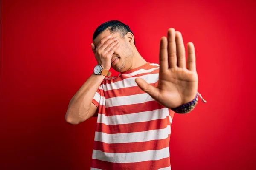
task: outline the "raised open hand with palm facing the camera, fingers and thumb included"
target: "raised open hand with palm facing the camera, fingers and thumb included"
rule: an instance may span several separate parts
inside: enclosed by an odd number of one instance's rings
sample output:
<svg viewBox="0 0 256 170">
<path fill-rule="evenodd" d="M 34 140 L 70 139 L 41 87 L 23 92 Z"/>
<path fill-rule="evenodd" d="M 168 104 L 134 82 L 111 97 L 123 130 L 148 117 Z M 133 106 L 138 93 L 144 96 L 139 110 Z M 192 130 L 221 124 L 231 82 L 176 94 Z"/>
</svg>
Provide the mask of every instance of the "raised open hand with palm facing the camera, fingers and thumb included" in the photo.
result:
<svg viewBox="0 0 256 170">
<path fill-rule="evenodd" d="M 135 79 L 138 86 L 166 108 L 176 108 L 191 102 L 198 91 L 198 75 L 195 67 L 195 48 L 188 43 L 186 51 L 180 32 L 168 30 L 167 38 L 160 41 L 159 80 L 157 87 L 149 85 L 141 78 Z"/>
</svg>

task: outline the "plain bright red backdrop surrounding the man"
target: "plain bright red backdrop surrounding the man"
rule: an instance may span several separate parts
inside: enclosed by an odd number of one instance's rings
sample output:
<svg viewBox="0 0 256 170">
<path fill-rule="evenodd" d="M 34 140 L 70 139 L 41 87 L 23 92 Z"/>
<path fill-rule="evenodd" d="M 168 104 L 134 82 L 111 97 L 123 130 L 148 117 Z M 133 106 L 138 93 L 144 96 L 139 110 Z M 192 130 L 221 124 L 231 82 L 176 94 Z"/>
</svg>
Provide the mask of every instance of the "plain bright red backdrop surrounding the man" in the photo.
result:
<svg viewBox="0 0 256 170">
<path fill-rule="evenodd" d="M 207 104 L 175 114 L 172 170 L 256 169 L 255 16 L 255 0 L 1 0 L 0 169 L 90 168 L 96 118 L 69 125 L 65 113 L 108 20 L 130 26 L 148 62 L 170 27 L 195 44 Z"/>
</svg>

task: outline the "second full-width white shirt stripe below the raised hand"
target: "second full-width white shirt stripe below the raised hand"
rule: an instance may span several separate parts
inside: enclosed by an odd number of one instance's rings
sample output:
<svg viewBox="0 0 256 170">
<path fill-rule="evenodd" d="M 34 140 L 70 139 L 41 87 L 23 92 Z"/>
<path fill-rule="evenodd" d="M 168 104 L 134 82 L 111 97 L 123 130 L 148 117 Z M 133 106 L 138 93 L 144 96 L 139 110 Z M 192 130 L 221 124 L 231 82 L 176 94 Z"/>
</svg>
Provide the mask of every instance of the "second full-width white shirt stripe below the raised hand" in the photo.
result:
<svg viewBox="0 0 256 170">
<path fill-rule="evenodd" d="M 132 133 L 116 133 L 107 134 L 103 132 L 95 132 L 95 141 L 104 143 L 131 143 L 131 142 L 145 142 L 151 140 L 160 140 L 168 138 L 171 133 L 171 126 L 167 125 L 164 129 L 148 130 L 143 132 Z"/>
</svg>

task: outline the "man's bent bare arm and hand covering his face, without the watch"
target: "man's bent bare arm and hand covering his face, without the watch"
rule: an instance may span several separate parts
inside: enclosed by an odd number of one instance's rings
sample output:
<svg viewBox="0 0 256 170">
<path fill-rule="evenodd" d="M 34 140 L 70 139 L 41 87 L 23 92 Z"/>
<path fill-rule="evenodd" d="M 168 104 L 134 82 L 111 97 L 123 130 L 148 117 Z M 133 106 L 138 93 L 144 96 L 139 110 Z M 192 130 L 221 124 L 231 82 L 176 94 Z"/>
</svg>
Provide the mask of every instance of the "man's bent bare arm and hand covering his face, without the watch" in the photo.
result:
<svg viewBox="0 0 256 170">
<path fill-rule="evenodd" d="M 91 45 L 98 64 L 105 70 L 109 70 L 113 53 L 119 47 L 119 40 L 108 36 L 102 38 L 97 48 L 95 48 L 94 44 Z M 65 116 L 66 122 L 76 125 L 84 122 L 96 113 L 97 106 L 92 101 L 104 77 L 103 75 L 93 74 L 81 86 L 69 102 Z"/>
</svg>

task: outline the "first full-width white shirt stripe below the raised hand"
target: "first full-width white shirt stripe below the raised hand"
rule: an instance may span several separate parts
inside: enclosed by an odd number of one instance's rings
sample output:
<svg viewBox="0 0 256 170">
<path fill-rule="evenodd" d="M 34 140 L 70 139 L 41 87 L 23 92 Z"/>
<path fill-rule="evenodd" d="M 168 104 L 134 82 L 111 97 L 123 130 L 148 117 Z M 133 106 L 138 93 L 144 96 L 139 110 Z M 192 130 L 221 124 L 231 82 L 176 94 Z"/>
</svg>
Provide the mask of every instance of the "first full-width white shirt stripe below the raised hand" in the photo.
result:
<svg viewBox="0 0 256 170">
<path fill-rule="evenodd" d="M 97 123 L 104 123 L 105 125 L 120 125 L 136 122 L 147 122 L 157 119 L 165 119 L 169 114 L 168 108 L 156 109 L 154 111 L 145 111 L 139 113 L 105 116 L 105 114 L 98 114 Z"/>
</svg>

